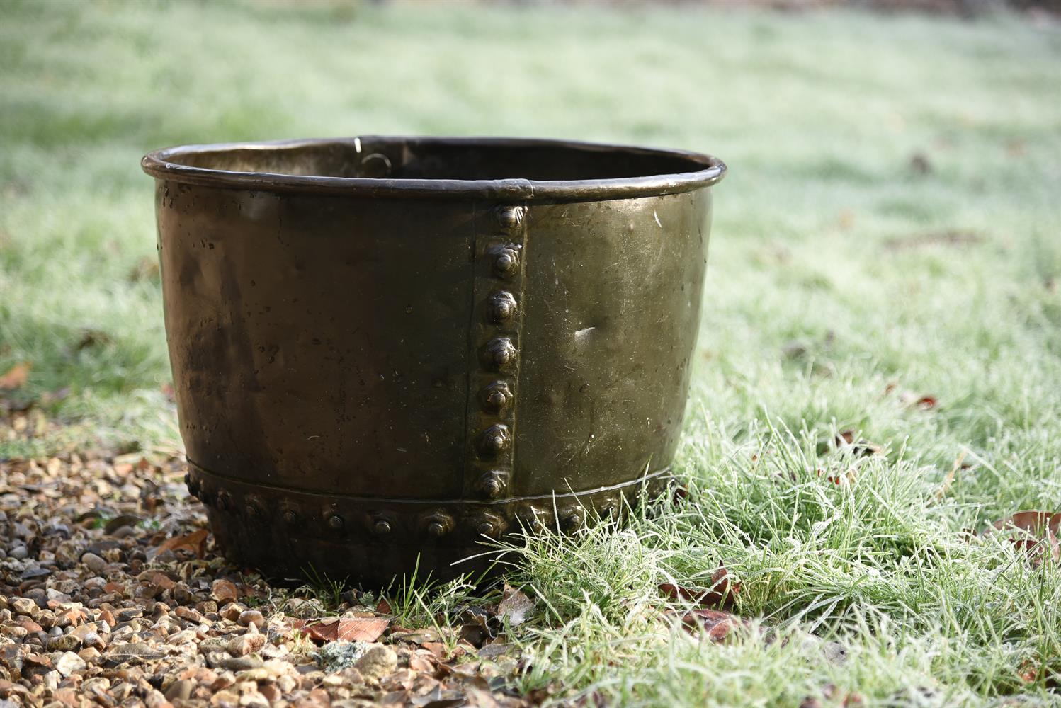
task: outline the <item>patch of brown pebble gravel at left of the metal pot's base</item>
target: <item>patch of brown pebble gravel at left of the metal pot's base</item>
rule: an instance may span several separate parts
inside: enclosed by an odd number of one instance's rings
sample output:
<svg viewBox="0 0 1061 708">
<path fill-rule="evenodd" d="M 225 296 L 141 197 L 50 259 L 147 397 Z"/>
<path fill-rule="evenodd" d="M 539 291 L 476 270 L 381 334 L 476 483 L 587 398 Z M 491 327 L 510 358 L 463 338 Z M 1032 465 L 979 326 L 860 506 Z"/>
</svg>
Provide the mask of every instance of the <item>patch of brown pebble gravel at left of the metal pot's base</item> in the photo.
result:
<svg viewBox="0 0 1061 708">
<path fill-rule="evenodd" d="M 0 462 L 0 475 L 23 490 L 52 489 L 56 481 L 70 490 L 64 498 L 24 491 L 35 499 L 33 517 L 0 510 L 0 536 L 6 531 L 0 537 L 6 541 L 0 544 L 0 708 L 8 701 L 52 708 L 324 708 L 335 702 L 353 708 L 412 690 L 413 678 L 425 689 L 465 683 L 457 674 L 439 680 L 398 671 L 410 650 L 399 650 L 396 661 L 395 651 L 380 643 L 314 647 L 305 632 L 294 632 L 295 617 L 284 609 L 318 620 L 329 615 L 320 599 L 271 595 L 267 584 L 246 579 L 212 545 L 205 557 L 190 550 L 156 553 L 162 537 L 204 533 L 202 507 L 169 498 L 182 461 L 152 468 L 138 465 L 139 457 L 117 463 L 94 458 L 86 471 L 73 459 L 51 460 L 51 477 L 32 462 Z M 132 471 L 115 473 L 115 464 Z M 97 528 L 101 513 L 140 518 L 146 499 L 150 523 L 121 523 L 110 534 Z M 99 510 L 94 516 L 85 515 L 92 509 Z M 370 616 L 375 600 L 360 605 L 360 597 L 344 594 L 340 612 Z M 317 649 L 334 655 L 334 668 L 321 671 Z"/>
</svg>

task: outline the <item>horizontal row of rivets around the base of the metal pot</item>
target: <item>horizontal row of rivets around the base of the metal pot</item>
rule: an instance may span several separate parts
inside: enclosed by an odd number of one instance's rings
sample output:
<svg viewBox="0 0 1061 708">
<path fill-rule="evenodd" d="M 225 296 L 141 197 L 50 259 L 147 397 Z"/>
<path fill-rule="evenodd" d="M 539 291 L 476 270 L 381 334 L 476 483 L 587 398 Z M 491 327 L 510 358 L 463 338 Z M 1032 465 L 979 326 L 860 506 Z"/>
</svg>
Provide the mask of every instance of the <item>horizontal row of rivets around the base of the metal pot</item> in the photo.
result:
<svg viewBox="0 0 1061 708">
<path fill-rule="evenodd" d="M 419 529 L 427 536 L 441 537 L 454 531 L 470 533 L 473 536 L 499 537 L 506 532 L 515 531 L 520 526 L 534 528 L 557 528 L 562 531 L 573 531 L 586 519 L 586 509 L 582 501 L 567 500 L 559 509 L 552 506 L 539 506 L 530 502 L 512 502 L 500 509 L 475 508 L 470 505 L 464 513 L 445 508 L 429 508 L 427 510 L 410 509 L 396 512 L 394 510 L 366 509 L 351 512 L 341 511 L 335 505 L 320 507 L 312 502 L 299 503 L 290 495 L 279 500 L 275 508 L 256 492 L 243 493 L 237 501 L 236 495 L 227 489 L 218 488 L 213 483 L 202 483 L 191 475 L 185 478 L 188 489 L 203 503 L 213 507 L 225 514 L 239 515 L 242 509 L 250 524 L 265 524 L 271 518 L 279 518 L 282 526 L 293 532 L 308 531 L 314 527 L 325 529 L 329 533 L 346 534 L 359 527 L 371 535 L 384 537 L 396 529 Z M 620 495 L 608 493 L 591 493 L 588 496 L 598 498 L 595 507 L 602 517 L 610 517 L 618 513 Z M 586 501 L 591 501 L 589 498 Z M 411 502 L 411 507 L 418 507 Z M 458 521 L 459 519 L 459 521 Z M 351 523 L 352 521 L 352 523 Z M 459 528 L 458 528 L 459 527 Z"/>
</svg>

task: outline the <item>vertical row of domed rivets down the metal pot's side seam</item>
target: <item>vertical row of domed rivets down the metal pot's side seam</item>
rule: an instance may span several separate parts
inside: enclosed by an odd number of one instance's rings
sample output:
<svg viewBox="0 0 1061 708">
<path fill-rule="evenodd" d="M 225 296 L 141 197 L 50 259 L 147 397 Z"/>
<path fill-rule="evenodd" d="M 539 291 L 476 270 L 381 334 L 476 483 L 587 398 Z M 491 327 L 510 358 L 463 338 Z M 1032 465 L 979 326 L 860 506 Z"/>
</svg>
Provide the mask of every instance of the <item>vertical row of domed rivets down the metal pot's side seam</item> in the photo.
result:
<svg viewBox="0 0 1061 708">
<path fill-rule="evenodd" d="M 465 493 L 503 497 L 512 467 L 516 383 L 519 373 L 519 296 L 524 217 L 521 206 L 502 206 L 476 222 L 475 321 L 472 341 L 480 367 L 472 374 Z"/>
</svg>

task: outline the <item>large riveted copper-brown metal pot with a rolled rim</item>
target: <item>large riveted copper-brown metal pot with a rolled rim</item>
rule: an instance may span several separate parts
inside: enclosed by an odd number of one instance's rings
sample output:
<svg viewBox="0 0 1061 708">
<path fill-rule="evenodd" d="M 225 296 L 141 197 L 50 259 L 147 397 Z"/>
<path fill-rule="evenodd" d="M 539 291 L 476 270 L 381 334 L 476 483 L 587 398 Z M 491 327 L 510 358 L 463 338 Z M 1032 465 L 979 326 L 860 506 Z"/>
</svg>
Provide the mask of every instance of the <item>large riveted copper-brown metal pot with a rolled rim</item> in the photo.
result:
<svg viewBox="0 0 1061 708">
<path fill-rule="evenodd" d="M 667 472 L 719 160 L 361 137 L 142 164 L 188 485 L 234 560 L 449 578 Z"/>
</svg>

